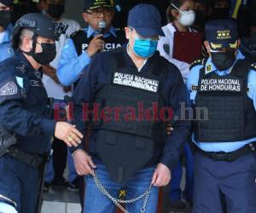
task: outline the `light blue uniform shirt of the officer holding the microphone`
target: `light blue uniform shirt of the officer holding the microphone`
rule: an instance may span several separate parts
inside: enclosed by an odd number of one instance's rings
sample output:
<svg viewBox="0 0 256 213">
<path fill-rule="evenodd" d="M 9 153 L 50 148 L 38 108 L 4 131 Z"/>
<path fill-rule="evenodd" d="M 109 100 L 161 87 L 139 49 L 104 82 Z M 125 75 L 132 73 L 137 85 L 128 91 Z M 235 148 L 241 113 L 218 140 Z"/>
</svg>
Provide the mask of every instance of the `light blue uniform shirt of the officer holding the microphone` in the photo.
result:
<svg viewBox="0 0 256 213">
<path fill-rule="evenodd" d="M 84 29 L 84 32 L 86 33 L 87 38 L 96 36 L 96 32 L 90 26 Z M 110 27 L 109 31 L 105 33 L 103 37 L 117 37 L 116 32 L 116 28 Z M 86 52 L 78 55 L 73 40 L 71 38 L 67 39 L 65 47 L 62 49 L 61 59 L 57 69 L 57 77 L 61 84 L 69 86 L 76 82 L 79 79 L 84 66 L 87 66 L 89 63 L 90 56 Z"/>
</svg>

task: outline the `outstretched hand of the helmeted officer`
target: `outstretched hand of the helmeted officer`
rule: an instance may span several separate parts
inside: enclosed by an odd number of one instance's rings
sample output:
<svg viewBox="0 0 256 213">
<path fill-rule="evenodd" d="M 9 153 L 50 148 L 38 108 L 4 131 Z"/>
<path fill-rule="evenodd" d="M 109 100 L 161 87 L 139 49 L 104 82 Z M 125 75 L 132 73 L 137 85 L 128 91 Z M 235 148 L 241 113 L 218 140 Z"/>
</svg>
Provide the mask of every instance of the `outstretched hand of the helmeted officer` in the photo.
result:
<svg viewBox="0 0 256 213">
<path fill-rule="evenodd" d="M 55 137 L 64 141 L 68 147 L 78 147 L 83 135 L 75 128 L 75 125 L 59 121 L 55 126 Z"/>
</svg>

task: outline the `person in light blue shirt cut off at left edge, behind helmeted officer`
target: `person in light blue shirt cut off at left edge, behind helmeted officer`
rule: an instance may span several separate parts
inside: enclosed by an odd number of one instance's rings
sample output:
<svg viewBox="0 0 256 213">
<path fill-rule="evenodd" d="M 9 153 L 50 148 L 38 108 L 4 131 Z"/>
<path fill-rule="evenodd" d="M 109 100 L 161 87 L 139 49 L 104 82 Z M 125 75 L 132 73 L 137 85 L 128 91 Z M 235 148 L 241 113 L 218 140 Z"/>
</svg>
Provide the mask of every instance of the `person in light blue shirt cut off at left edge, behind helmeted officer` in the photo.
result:
<svg viewBox="0 0 256 213">
<path fill-rule="evenodd" d="M 10 47 L 10 36 L 13 26 L 11 22 L 10 0 L 0 0 L 0 62 L 13 55 Z"/>
</svg>

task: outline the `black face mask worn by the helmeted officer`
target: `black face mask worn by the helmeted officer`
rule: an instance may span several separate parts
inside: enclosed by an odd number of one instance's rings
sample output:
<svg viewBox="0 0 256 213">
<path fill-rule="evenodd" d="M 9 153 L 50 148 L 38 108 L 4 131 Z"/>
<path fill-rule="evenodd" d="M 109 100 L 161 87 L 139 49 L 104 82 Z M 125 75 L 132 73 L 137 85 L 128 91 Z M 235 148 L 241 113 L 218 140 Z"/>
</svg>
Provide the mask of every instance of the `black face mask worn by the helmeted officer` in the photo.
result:
<svg viewBox="0 0 256 213">
<path fill-rule="evenodd" d="M 56 46 L 55 43 L 39 43 L 43 49 L 42 53 L 30 52 L 33 59 L 41 65 L 48 65 L 49 62 L 55 59 Z"/>
</svg>

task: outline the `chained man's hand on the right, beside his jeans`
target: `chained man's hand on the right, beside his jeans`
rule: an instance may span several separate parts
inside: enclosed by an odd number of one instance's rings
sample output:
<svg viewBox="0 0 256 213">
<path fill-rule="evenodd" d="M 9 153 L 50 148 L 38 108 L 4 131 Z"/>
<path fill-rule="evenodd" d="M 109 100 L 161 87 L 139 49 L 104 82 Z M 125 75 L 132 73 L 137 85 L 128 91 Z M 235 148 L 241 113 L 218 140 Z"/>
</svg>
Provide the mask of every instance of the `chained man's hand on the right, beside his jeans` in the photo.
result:
<svg viewBox="0 0 256 213">
<path fill-rule="evenodd" d="M 154 187 L 164 187 L 171 181 L 171 171 L 165 164 L 158 164 L 154 170 L 151 184 Z"/>
</svg>

